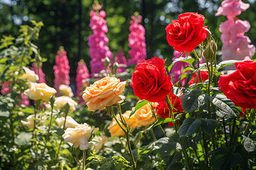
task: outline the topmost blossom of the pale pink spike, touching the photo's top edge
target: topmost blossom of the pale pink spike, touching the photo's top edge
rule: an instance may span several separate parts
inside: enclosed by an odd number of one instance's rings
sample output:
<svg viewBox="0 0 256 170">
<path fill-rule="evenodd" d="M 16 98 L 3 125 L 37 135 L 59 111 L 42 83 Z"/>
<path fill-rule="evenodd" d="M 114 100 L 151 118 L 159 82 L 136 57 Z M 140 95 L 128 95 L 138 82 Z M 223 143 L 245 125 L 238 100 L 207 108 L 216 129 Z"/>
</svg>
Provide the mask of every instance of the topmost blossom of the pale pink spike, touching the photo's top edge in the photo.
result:
<svg viewBox="0 0 256 170">
<path fill-rule="evenodd" d="M 224 15 L 229 20 L 233 20 L 240 15 L 242 11 L 246 11 L 250 7 L 249 3 L 243 3 L 242 0 L 225 0 L 218 7 L 215 16 Z"/>
</svg>

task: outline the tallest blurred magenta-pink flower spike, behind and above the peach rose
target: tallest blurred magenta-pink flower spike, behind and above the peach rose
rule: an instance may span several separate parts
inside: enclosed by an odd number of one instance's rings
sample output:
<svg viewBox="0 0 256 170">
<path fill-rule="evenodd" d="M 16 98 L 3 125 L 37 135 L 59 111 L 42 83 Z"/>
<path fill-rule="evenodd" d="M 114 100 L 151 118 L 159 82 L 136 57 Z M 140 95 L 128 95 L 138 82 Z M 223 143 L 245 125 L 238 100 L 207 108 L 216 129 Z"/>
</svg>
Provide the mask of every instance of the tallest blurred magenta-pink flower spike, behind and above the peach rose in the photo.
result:
<svg viewBox="0 0 256 170">
<path fill-rule="evenodd" d="M 105 69 L 104 61 L 105 57 L 112 58 L 113 54 L 110 52 L 109 47 L 106 45 L 109 42 L 106 32 L 108 27 L 106 25 L 106 12 L 100 9 L 102 5 L 93 5 L 93 10 L 90 11 L 90 28 L 93 31 L 93 35 L 88 36 L 90 65 L 92 76 L 95 73 L 100 73 Z M 100 12 L 99 12 L 100 11 Z"/>
</svg>

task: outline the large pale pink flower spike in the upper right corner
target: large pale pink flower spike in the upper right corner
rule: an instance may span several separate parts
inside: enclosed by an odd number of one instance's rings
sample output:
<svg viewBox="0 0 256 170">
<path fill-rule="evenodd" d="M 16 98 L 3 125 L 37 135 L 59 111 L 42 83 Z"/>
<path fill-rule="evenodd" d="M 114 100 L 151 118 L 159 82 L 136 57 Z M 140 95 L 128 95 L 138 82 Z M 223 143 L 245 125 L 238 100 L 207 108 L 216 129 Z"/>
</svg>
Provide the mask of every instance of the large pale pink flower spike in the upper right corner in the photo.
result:
<svg viewBox="0 0 256 170">
<path fill-rule="evenodd" d="M 250 59 L 254 56 L 255 46 L 250 45 L 251 40 L 245 36 L 245 32 L 250 29 L 250 23 L 240 19 L 234 21 L 237 15 L 249 8 L 249 4 L 243 3 L 241 0 L 225 0 L 218 8 L 215 14 L 225 15 L 228 20 L 220 24 L 220 32 L 222 45 L 222 60 L 228 59 Z"/>
</svg>

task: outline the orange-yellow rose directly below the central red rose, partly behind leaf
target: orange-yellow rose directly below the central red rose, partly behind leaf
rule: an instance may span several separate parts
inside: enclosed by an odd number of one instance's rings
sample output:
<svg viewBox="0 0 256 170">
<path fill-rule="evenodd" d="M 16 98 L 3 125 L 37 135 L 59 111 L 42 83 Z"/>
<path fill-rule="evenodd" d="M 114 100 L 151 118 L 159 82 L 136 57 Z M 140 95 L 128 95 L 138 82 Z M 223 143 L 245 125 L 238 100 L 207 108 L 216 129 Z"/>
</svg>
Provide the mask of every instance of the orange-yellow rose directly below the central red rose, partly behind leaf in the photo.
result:
<svg viewBox="0 0 256 170">
<path fill-rule="evenodd" d="M 153 103 L 153 108 L 158 105 L 158 103 Z M 147 126 L 153 124 L 156 120 L 152 114 L 150 103 L 143 105 L 139 108 L 135 113 L 135 121 L 137 127 L 140 128 L 141 126 Z"/>
</svg>

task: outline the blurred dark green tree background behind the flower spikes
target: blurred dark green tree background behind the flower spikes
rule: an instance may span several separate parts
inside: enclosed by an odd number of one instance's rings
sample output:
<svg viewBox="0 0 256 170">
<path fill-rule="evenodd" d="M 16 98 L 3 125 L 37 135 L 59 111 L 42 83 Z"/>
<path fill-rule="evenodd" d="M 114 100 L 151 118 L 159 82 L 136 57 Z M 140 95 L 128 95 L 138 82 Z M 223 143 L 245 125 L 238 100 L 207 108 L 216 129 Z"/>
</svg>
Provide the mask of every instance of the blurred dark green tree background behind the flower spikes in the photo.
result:
<svg viewBox="0 0 256 170">
<path fill-rule="evenodd" d="M 171 62 L 173 49 L 166 41 L 165 27 L 172 19 L 183 12 L 199 12 L 205 16 L 214 38 L 218 40 L 221 49 L 218 27 L 226 20 L 225 16 L 214 16 L 221 1 L 217 0 L 130 0 L 114 1 L 99 0 L 106 11 L 109 32 L 109 48 L 113 54 L 118 49 L 125 52 L 126 58 L 130 49 L 128 35 L 131 15 L 138 11 L 143 16 L 142 24 L 146 28 L 147 57 L 158 56 Z M 255 45 L 256 40 L 256 5 L 255 0 L 243 1 L 250 3 L 250 8 L 238 16 L 241 20 L 249 20 L 251 29 L 245 35 Z M 19 25 L 30 24 L 30 20 L 42 21 L 44 27 L 40 31 L 39 46 L 42 57 L 48 58 L 43 70 L 47 82 L 53 84 L 53 65 L 59 46 L 64 46 L 71 66 L 71 83 L 75 82 L 77 62 L 84 59 L 89 66 L 88 36 L 92 34 L 89 27 L 89 12 L 93 0 L 0 0 L 0 36 L 13 35 L 17 37 Z"/>
</svg>

